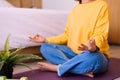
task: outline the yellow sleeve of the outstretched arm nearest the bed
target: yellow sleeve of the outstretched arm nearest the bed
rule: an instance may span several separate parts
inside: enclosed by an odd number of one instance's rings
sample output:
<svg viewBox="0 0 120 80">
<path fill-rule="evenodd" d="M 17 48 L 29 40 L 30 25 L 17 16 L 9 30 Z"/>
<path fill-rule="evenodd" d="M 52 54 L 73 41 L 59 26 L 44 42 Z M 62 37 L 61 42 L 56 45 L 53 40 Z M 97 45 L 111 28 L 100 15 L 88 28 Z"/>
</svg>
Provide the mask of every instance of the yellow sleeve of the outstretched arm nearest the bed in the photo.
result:
<svg viewBox="0 0 120 80">
<path fill-rule="evenodd" d="M 69 21 L 67 22 L 65 31 L 62 34 L 47 38 L 48 43 L 66 44 L 68 40 L 68 27 L 69 27 Z"/>
</svg>

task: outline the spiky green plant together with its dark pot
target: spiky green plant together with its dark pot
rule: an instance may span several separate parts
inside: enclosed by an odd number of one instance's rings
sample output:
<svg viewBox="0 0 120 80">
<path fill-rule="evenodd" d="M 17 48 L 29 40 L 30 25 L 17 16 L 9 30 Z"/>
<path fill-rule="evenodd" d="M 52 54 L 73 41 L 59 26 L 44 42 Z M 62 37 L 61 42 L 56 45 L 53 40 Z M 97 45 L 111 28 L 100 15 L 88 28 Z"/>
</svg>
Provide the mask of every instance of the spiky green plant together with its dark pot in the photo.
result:
<svg viewBox="0 0 120 80">
<path fill-rule="evenodd" d="M 19 53 L 24 48 L 19 48 L 19 49 L 16 49 L 15 51 L 10 51 L 9 37 L 10 35 L 7 37 L 5 41 L 4 49 L 0 51 L 0 76 L 6 76 L 7 78 L 12 78 L 14 66 L 22 65 L 30 68 L 23 61 L 29 60 L 29 59 L 42 59 L 42 58 L 34 54 L 19 55 Z"/>
</svg>

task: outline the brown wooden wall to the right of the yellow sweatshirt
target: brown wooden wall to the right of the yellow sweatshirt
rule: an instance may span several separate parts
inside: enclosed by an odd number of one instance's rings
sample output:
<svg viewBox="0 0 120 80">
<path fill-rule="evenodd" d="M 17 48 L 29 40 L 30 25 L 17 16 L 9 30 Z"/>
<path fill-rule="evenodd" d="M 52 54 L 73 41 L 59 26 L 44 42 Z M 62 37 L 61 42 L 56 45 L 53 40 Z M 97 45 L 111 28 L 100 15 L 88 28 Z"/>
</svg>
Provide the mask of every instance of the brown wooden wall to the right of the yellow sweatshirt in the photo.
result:
<svg viewBox="0 0 120 80">
<path fill-rule="evenodd" d="M 120 44 L 120 0 L 106 0 L 110 8 L 109 42 Z"/>
</svg>

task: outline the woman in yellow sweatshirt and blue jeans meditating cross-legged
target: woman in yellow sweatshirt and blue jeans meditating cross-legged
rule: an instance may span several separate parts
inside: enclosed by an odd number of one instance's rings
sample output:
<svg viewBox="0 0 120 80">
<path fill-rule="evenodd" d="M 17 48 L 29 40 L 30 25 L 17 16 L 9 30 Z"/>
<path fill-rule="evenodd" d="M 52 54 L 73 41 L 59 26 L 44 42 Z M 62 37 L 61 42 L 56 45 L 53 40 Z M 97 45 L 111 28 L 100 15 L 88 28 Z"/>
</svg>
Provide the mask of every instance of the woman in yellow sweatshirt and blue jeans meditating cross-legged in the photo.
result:
<svg viewBox="0 0 120 80">
<path fill-rule="evenodd" d="M 29 38 L 43 43 L 40 51 L 50 63 L 38 62 L 41 70 L 55 71 L 59 76 L 73 73 L 94 77 L 108 69 L 109 10 L 103 0 L 77 1 L 63 34 Z"/>
</svg>

